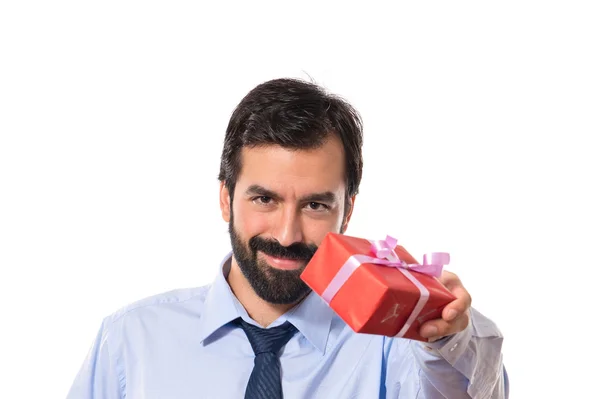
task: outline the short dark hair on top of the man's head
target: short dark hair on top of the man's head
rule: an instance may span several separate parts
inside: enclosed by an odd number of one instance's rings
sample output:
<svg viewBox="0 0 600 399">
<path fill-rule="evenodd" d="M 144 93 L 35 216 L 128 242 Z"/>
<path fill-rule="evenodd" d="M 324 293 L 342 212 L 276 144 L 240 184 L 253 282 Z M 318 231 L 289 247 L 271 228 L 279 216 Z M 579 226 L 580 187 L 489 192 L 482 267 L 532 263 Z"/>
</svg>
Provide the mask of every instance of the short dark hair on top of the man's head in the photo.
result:
<svg viewBox="0 0 600 399">
<path fill-rule="evenodd" d="M 297 79 L 275 79 L 252 89 L 237 105 L 225 133 L 219 180 L 233 198 L 243 147 L 318 148 L 330 134 L 341 139 L 346 160 L 346 207 L 362 178 L 362 120 L 342 98 Z"/>
</svg>

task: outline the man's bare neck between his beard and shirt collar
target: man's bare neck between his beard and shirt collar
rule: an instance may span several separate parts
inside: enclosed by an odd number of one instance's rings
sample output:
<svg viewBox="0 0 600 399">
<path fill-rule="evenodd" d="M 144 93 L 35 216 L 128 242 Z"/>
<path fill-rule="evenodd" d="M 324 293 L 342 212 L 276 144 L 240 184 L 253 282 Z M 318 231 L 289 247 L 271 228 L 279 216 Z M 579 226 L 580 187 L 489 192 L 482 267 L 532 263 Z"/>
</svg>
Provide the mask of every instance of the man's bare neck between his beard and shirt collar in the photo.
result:
<svg viewBox="0 0 600 399">
<path fill-rule="evenodd" d="M 242 304 L 248 315 L 263 327 L 269 326 L 279 316 L 293 308 L 296 304 L 274 304 L 265 301 L 254 292 L 254 289 L 240 270 L 237 262 L 231 258 L 231 270 L 227 276 L 231 291 Z"/>
</svg>

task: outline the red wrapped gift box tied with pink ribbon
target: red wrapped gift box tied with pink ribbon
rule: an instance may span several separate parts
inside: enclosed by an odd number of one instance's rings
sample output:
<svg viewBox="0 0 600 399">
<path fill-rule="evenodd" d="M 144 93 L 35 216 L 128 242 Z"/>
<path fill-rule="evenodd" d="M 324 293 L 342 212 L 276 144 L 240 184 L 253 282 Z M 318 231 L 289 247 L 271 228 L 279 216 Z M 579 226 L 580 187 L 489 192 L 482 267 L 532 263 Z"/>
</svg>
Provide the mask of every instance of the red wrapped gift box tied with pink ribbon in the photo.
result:
<svg viewBox="0 0 600 399">
<path fill-rule="evenodd" d="M 444 307 L 456 298 L 427 271 L 415 271 L 428 267 L 418 265 L 391 240 L 384 258 L 385 251 L 377 251 L 377 245 L 386 245 L 384 241 L 329 233 L 301 278 L 355 332 L 426 342 L 418 333 L 421 325 L 440 318 Z M 441 269 L 439 264 L 435 267 Z"/>
</svg>

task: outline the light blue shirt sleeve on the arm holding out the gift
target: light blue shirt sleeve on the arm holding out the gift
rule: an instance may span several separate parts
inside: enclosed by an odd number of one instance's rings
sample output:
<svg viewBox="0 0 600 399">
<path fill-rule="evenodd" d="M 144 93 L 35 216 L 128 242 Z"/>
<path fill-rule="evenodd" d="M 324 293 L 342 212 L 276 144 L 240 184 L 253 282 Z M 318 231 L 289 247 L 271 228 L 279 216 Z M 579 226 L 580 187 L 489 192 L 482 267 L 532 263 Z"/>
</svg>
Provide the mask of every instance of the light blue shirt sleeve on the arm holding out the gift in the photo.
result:
<svg viewBox="0 0 600 399">
<path fill-rule="evenodd" d="M 496 325 L 471 308 L 468 327 L 433 343 L 408 340 L 397 350 L 409 350 L 417 372 L 417 398 L 507 399 L 508 376 L 502 360 L 503 336 Z M 407 341 L 407 340 L 395 340 Z M 402 357 L 400 354 L 395 358 Z M 388 373 L 395 374 L 394 364 Z M 398 374 L 404 375 L 404 374 Z M 407 381 L 405 381 L 407 382 Z M 410 384 L 410 385 L 413 385 Z M 413 385 L 413 386 L 414 386 Z M 403 398 L 400 390 L 399 398 Z"/>
</svg>

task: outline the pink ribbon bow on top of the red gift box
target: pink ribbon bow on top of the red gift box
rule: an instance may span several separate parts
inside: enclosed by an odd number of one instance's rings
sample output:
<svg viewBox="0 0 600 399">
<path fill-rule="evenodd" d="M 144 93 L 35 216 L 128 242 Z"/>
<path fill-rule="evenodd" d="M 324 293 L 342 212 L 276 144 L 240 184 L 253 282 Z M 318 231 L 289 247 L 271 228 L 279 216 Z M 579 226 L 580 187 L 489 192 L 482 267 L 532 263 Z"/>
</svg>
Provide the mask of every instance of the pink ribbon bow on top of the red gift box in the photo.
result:
<svg viewBox="0 0 600 399">
<path fill-rule="evenodd" d="M 450 254 L 446 252 L 431 252 L 423 255 L 423 263 L 406 263 L 398 257 L 394 249 L 398 240 L 391 236 L 386 236 L 385 240 L 371 241 L 371 252 L 380 261 L 377 262 L 383 266 L 401 267 L 406 270 L 427 274 L 434 277 L 442 275 L 444 265 L 450 263 Z"/>
</svg>

